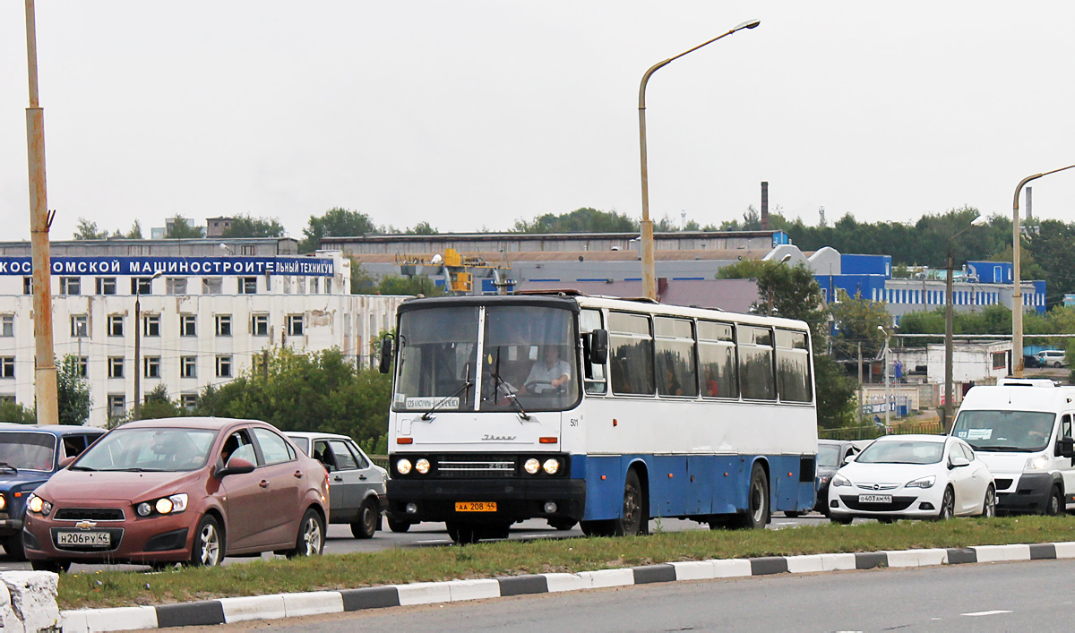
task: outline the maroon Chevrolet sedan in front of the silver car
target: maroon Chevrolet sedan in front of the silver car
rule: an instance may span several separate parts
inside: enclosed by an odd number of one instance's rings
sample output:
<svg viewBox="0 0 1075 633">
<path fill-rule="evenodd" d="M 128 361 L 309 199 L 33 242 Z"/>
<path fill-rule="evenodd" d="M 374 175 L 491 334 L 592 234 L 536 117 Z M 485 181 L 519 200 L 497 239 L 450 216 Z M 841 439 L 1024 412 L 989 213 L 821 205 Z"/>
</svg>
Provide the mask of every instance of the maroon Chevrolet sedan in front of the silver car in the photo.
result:
<svg viewBox="0 0 1075 633">
<path fill-rule="evenodd" d="M 225 556 L 313 556 L 328 475 L 257 420 L 166 418 L 103 436 L 27 501 L 34 570 L 72 562 L 216 565 Z"/>
</svg>

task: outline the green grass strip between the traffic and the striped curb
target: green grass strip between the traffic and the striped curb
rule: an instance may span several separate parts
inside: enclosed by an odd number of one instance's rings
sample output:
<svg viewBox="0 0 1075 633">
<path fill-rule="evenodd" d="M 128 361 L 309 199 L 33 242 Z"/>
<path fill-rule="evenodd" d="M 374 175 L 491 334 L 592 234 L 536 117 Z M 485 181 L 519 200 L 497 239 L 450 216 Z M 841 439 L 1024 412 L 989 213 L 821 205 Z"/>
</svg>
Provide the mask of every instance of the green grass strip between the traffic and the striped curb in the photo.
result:
<svg viewBox="0 0 1075 633">
<path fill-rule="evenodd" d="M 689 530 L 622 538 L 542 538 L 258 560 L 176 571 L 61 574 L 60 608 L 584 572 L 673 561 L 1075 541 L 1075 517 L 958 518 L 785 530 Z"/>
</svg>

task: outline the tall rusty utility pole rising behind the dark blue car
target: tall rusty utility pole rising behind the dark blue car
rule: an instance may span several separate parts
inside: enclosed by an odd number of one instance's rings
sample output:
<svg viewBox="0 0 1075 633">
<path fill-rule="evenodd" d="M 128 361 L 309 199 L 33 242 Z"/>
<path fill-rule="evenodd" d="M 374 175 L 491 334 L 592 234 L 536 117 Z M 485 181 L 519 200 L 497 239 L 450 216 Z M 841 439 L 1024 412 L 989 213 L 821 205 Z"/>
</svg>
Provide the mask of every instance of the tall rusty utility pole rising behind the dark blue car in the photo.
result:
<svg viewBox="0 0 1075 633">
<path fill-rule="evenodd" d="M 53 288 L 48 258 L 48 197 L 45 188 L 45 111 L 38 100 L 38 35 L 33 0 L 26 0 L 26 61 L 30 106 L 26 145 L 30 176 L 30 248 L 33 262 L 33 393 L 38 423 L 59 423 L 56 358 L 53 353 Z"/>
</svg>

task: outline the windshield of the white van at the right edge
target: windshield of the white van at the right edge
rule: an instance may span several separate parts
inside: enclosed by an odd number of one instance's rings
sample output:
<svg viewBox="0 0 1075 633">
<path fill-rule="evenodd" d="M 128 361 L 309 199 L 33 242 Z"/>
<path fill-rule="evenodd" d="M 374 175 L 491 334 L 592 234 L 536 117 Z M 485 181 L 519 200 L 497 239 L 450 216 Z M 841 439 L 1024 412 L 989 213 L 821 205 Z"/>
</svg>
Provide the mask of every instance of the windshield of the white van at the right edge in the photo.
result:
<svg viewBox="0 0 1075 633">
<path fill-rule="evenodd" d="M 1037 452 L 1045 450 L 1056 414 L 1034 411 L 961 411 L 951 434 L 975 450 Z"/>
</svg>

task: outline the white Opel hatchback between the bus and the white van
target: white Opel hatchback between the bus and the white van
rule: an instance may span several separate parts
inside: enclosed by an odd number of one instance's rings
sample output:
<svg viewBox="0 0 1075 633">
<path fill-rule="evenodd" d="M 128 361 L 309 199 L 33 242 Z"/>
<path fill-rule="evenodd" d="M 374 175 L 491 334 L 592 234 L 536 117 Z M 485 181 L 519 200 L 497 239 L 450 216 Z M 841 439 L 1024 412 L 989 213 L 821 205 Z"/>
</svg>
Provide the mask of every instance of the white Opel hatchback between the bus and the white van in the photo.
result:
<svg viewBox="0 0 1075 633">
<path fill-rule="evenodd" d="M 833 521 L 948 519 L 997 512 L 992 473 L 958 437 L 886 435 L 849 459 L 829 486 Z"/>
</svg>

